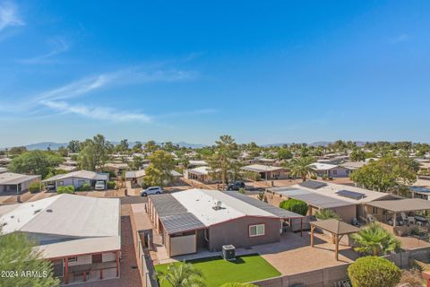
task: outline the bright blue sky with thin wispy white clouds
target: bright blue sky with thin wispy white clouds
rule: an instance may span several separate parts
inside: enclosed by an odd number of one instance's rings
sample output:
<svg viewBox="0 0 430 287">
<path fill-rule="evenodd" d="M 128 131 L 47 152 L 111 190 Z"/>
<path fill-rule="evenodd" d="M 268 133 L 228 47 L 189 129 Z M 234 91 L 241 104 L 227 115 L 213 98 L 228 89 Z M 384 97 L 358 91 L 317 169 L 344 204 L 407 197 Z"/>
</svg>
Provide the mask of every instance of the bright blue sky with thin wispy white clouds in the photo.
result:
<svg viewBox="0 0 430 287">
<path fill-rule="evenodd" d="M 0 0 L 0 146 L 430 142 L 428 1 Z"/>
</svg>

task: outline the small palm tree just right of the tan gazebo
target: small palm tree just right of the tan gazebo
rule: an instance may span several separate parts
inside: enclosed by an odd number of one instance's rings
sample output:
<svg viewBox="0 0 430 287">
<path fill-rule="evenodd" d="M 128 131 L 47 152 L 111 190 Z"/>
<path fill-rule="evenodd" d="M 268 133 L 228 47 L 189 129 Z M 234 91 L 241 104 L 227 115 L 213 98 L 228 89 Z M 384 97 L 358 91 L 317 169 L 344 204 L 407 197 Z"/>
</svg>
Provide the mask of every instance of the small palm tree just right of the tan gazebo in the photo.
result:
<svg viewBox="0 0 430 287">
<path fill-rule="evenodd" d="M 365 255 L 380 256 L 394 253 L 400 249 L 400 241 L 393 234 L 384 230 L 377 222 L 367 225 L 352 236 L 357 252 Z"/>
</svg>

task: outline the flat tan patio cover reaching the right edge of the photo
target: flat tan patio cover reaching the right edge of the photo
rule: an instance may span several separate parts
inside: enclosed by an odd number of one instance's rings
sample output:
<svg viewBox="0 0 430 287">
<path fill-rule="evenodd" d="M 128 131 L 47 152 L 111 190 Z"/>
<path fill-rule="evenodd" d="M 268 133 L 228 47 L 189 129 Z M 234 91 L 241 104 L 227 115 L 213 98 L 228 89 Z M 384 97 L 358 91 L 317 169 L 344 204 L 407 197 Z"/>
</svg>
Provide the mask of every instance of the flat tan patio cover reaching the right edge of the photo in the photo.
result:
<svg viewBox="0 0 430 287">
<path fill-rule="evenodd" d="M 399 200 L 377 200 L 366 203 L 370 206 L 382 208 L 393 213 L 415 212 L 430 210 L 430 201 L 419 198 L 405 198 Z"/>
</svg>

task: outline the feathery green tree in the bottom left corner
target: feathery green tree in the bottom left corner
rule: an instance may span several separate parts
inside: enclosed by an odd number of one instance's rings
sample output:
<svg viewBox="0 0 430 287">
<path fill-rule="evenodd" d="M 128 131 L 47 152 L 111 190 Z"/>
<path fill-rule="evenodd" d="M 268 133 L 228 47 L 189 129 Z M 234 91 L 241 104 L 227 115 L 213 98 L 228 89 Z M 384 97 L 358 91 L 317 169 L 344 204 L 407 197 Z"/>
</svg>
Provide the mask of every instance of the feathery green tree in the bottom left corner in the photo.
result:
<svg viewBox="0 0 430 287">
<path fill-rule="evenodd" d="M 0 270 L 17 274 L 16 276 L 2 276 L 1 286 L 59 286 L 59 280 L 54 277 L 52 263 L 43 260 L 39 252 L 34 251 L 35 246 L 36 242 L 30 240 L 24 233 L 13 232 L 0 236 Z M 26 271 L 39 272 L 41 276 L 22 274 Z"/>
</svg>

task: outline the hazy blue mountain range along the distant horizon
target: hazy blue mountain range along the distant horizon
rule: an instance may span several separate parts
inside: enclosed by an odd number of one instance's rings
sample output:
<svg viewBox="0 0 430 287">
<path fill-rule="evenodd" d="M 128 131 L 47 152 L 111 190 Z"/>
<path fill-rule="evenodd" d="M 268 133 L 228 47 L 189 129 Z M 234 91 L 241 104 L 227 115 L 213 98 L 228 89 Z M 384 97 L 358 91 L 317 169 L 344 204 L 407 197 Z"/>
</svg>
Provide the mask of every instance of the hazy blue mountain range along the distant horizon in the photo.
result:
<svg viewBox="0 0 430 287">
<path fill-rule="evenodd" d="M 114 144 L 118 144 L 119 142 L 111 142 Z M 136 144 L 137 142 L 129 142 L 129 146 L 133 147 L 134 144 Z M 145 142 L 141 142 L 141 143 L 145 143 Z M 333 142 L 314 142 L 314 143 L 309 143 L 309 145 L 312 146 L 327 146 L 330 143 Z M 366 142 L 356 142 L 357 146 L 363 146 L 365 145 Z M 45 151 L 47 150 L 47 148 L 49 147 L 51 150 L 58 150 L 58 148 L 60 146 L 64 146 L 66 147 L 69 143 L 56 143 L 56 142 L 42 142 L 42 143 L 31 143 L 31 144 L 27 144 L 25 145 L 25 147 L 27 148 L 27 150 L 29 151 L 34 151 L 34 150 L 41 150 L 41 151 Z M 157 143 L 157 144 L 161 144 L 161 143 Z M 180 147 L 186 147 L 186 148 L 193 148 L 193 149 L 197 149 L 197 148 L 202 148 L 204 146 L 207 146 L 206 144 L 200 144 L 200 143 L 185 143 L 185 142 L 178 142 L 178 143 L 173 143 L 173 144 L 177 144 Z M 268 144 L 262 144 L 262 146 L 281 146 L 284 144 L 291 144 L 291 143 L 268 143 Z M 0 148 L 0 150 L 3 150 L 5 148 Z"/>
</svg>

